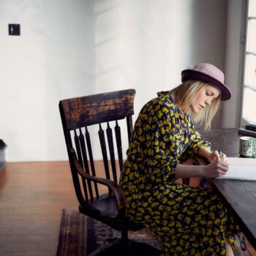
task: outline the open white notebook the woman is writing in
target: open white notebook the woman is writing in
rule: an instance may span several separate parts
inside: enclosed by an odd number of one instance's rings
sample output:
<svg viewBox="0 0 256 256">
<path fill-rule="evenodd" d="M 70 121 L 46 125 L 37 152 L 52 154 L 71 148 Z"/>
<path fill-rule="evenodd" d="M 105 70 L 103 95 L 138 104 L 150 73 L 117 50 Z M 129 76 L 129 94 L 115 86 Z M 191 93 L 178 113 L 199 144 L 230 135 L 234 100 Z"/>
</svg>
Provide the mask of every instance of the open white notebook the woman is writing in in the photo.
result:
<svg viewBox="0 0 256 256">
<path fill-rule="evenodd" d="M 256 158 L 227 157 L 230 167 L 225 176 L 218 178 L 233 178 L 256 181 Z"/>
</svg>

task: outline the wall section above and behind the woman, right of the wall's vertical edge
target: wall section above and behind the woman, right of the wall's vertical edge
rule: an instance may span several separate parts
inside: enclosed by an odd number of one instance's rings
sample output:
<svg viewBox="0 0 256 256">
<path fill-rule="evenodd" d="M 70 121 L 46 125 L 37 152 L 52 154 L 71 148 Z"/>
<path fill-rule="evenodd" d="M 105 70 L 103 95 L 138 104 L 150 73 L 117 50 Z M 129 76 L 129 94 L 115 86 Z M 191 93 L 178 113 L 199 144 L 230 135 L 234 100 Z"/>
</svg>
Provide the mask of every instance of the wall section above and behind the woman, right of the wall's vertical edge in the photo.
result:
<svg viewBox="0 0 256 256">
<path fill-rule="evenodd" d="M 94 1 L 95 89 L 137 89 L 135 106 L 200 61 L 225 67 L 226 1 Z"/>
</svg>

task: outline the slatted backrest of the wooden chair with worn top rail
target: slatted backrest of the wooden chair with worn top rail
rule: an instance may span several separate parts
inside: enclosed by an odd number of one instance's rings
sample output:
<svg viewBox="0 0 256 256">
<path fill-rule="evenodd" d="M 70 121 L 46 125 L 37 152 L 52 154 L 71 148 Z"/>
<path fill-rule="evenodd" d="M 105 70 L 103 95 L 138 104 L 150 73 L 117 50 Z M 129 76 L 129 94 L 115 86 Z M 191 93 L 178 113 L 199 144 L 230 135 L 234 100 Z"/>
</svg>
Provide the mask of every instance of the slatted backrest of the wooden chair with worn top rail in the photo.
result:
<svg viewBox="0 0 256 256">
<path fill-rule="evenodd" d="M 99 189 L 96 182 L 84 178 L 81 179 L 78 175 L 72 160 L 72 154 L 74 154 L 72 152 L 75 152 L 84 173 L 90 176 L 96 176 L 94 144 L 92 143 L 96 138 L 91 139 L 90 129 L 93 126 L 97 126 L 99 129 L 98 141 L 104 162 L 105 178 L 118 183 L 117 170 L 121 170 L 123 165 L 121 127 L 118 121 L 124 118 L 127 119 L 127 139 L 129 140 L 132 134 L 134 97 L 135 90 L 129 89 L 64 99 L 59 102 L 72 178 L 80 203 L 94 200 L 94 197 L 99 197 Z M 114 137 L 113 127 L 115 131 Z M 105 139 L 105 135 L 107 140 Z M 116 146 L 114 145 L 115 140 Z M 118 161 L 116 161 L 116 156 L 118 156 Z"/>
</svg>

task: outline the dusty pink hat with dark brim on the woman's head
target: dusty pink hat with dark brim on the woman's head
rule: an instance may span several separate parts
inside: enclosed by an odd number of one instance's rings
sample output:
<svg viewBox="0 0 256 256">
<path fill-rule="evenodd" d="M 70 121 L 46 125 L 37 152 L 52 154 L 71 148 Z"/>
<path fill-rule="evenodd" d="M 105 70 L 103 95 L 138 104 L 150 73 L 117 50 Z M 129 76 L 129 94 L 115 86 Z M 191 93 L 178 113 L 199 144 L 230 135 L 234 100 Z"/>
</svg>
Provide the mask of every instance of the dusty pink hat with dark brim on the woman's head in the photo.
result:
<svg viewBox="0 0 256 256">
<path fill-rule="evenodd" d="M 181 72 L 181 81 L 183 83 L 187 80 L 200 80 L 211 83 L 211 85 L 217 86 L 222 91 L 221 100 L 231 98 L 231 91 L 224 83 L 223 72 L 212 64 L 200 63 L 192 69 L 184 69 Z"/>
</svg>

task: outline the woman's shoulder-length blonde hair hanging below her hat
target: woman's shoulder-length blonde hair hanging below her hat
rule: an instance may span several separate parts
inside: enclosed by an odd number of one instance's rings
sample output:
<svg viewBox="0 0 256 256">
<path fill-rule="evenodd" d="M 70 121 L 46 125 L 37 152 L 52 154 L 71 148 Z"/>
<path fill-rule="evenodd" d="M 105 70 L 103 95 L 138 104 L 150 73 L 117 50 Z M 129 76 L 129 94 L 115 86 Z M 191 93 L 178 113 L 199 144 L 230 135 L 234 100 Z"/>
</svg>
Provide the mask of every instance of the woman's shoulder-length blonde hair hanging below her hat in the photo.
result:
<svg viewBox="0 0 256 256">
<path fill-rule="evenodd" d="M 158 95 L 170 94 L 174 97 L 178 108 L 184 110 L 185 113 L 189 113 L 195 122 L 200 122 L 201 124 L 204 123 L 204 129 L 210 129 L 211 121 L 219 109 L 221 94 L 219 94 L 217 99 L 211 102 L 211 105 L 206 105 L 206 107 L 198 113 L 193 113 L 189 108 L 192 100 L 197 94 L 197 91 L 203 88 L 203 86 L 206 86 L 206 84 L 208 83 L 198 80 L 187 80 L 176 88 L 170 91 L 158 93 Z"/>
</svg>

